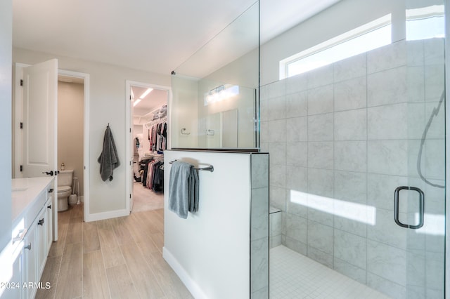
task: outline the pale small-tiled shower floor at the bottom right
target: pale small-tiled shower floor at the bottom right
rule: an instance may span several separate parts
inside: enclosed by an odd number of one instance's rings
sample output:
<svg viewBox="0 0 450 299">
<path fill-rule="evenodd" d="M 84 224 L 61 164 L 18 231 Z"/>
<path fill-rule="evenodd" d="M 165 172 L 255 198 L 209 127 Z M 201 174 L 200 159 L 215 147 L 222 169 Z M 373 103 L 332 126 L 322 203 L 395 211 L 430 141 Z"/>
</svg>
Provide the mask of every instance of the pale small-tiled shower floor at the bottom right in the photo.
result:
<svg viewBox="0 0 450 299">
<path fill-rule="evenodd" d="M 270 250 L 270 298 L 389 298 L 285 246 Z"/>
</svg>

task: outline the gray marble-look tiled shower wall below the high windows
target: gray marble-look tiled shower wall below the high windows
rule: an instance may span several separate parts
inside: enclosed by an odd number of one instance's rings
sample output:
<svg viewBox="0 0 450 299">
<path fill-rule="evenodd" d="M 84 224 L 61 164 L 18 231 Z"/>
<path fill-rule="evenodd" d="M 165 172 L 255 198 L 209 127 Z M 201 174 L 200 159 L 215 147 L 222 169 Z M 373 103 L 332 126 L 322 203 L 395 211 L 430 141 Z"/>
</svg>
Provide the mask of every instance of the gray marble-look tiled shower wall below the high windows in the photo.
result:
<svg viewBox="0 0 450 299">
<path fill-rule="evenodd" d="M 400 41 L 262 86 L 261 147 L 281 241 L 394 298 L 441 298 L 444 189 L 417 158 L 444 91 L 444 41 Z M 444 105 L 423 147 L 423 175 L 444 185 Z M 394 222 L 394 190 L 425 192 L 425 226 Z M 401 219 L 416 194 L 401 195 Z M 274 245 L 274 244 L 272 244 Z"/>
</svg>

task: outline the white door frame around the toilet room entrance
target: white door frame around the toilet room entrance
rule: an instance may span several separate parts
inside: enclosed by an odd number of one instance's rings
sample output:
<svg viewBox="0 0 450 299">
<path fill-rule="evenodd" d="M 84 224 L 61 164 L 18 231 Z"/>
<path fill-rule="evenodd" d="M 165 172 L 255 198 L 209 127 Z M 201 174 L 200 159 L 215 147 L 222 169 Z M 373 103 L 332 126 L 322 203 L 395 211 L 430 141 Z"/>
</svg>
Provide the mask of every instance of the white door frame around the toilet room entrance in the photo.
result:
<svg viewBox="0 0 450 299">
<path fill-rule="evenodd" d="M 14 95 L 13 95 L 13 178 L 22 178 L 20 173 L 20 164 L 22 164 L 22 150 L 18 151 L 16 149 L 22 149 L 22 131 L 20 131 L 20 122 L 23 119 L 22 116 L 22 88 L 20 88 L 20 79 L 23 77 L 23 68 L 29 67 L 29 64 L 15 62 L 14 66 Z M 89 214 L 89 74 L 82 72 L 72 72 L 67 69 L 58 69 L 58 75 L 75 77 L 83 79 L 83 97 L 84 97 L 84 126 L 83 126 L 83 163 L 84 163 L 84 192 L 83 192 L 83 202 L 84 202 L 84 221 L 86 221 L 86 216 Z M 58 236 L 54 236 L 54 241 L 58 239 Z"/>
</svg>

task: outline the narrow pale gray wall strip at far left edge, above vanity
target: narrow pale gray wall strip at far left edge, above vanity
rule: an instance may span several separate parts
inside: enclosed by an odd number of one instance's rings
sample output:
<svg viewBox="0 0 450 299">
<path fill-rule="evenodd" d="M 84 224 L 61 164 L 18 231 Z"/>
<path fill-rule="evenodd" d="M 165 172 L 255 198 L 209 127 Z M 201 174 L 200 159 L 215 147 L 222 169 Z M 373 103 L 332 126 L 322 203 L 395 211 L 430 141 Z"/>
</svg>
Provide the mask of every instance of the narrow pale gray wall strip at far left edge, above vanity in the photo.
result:
<svg viewBox="0 0 450 299">
<path fill-rule="evenodd" d="M 11 60 L 13 1 L 0 1 L 0 252 L 11 241 Z"/>
</svg>

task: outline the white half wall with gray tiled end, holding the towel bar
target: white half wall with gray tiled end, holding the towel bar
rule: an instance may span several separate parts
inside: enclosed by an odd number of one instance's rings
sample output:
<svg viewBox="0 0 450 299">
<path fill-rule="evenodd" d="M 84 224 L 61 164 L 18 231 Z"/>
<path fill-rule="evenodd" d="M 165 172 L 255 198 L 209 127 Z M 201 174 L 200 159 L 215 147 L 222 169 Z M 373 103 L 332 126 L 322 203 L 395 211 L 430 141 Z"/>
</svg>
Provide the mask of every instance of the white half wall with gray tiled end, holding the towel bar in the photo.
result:
<svg viewBox="0 0 450 299">
<path fill-rule="evenodd" d="M 175 159 L 214 166 L 214 172 L 199 171 L 199 211 L 187 219 L 167 208 Z M 267 154 L 165 152 L 163 256 L 195 298 L 268 294 L 268 167 Z M 250 282 L 251 270 L 259 275 Z"/>
</svg>

